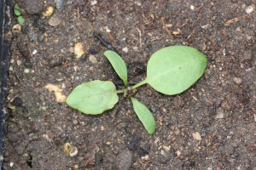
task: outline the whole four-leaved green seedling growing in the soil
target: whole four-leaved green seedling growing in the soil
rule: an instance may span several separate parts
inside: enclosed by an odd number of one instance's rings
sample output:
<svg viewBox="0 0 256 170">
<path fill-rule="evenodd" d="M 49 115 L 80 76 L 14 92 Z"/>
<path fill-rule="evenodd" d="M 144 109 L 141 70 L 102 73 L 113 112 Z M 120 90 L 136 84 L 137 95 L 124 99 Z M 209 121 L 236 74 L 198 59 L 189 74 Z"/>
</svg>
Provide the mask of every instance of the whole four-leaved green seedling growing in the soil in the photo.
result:
<svg viewBox="0 0 256 170">
<path fill-rule="evenodd" d="M 119 54 L 110 50 L 104 55 L 123 80 L 125 89 L 117 90 L 113 82 L 109 81 L 84 82 L 68 95 L 67 105 L 85 114 L 102 114 L 103 111 L 112 109 L 118 102 L 118 94 L 126 95 L 127 92 L 146 83 L 161 94 L 180 94 L 191 87 L 203 75 L 207 67 L 207 57 L 195 48 L 187 46 L 161 48 L 148 60 L 147 77 L 142 82 L 129 87 L 125 61 Z M 137 117 L 147 132 L 154 133 L 154 116 L 137 99 L 130 95 L 129 98 Z"/>
</svg>

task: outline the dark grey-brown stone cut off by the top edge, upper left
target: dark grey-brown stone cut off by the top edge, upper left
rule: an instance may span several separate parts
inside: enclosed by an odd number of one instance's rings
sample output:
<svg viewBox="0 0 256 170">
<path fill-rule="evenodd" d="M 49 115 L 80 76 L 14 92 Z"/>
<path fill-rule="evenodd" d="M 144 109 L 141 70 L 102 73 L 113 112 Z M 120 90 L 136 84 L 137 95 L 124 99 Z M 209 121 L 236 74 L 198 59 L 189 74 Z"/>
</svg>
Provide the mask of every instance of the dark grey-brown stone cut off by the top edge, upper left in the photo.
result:
<svg viewBox="0 0 256 170">
<path fill-rule="evenodd" d="M 26 0 L 24 7 L 28 14 L 41 14 L 44 7 L 44 0 Z"/>
</svg>

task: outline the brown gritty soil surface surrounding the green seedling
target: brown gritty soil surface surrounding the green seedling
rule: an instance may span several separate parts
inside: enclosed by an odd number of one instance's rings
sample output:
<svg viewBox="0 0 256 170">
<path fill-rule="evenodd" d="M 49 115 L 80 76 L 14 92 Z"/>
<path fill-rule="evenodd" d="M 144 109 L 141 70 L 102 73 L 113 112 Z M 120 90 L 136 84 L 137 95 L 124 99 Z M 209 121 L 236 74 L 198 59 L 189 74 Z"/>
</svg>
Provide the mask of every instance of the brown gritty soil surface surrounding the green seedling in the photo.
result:
<svg viewBox="0 0 256 170">
<path fill-rule="evenodd" d="M 3 169 L 256 169 L 254 0 L 34 1 L 13 1 L 26 26 L 10 47 Z M 49 6 L 54 13 L 44 17 Z M 153 135 L 122 95 L 100 116 L 63 102 L 82 82 L 121 84 L 98 34 L 125 59 L 131 83 L 162 47 L 207 55 L 205 75 L 183 94 L 139 88 L 135 96 L 157 122 Z"/>
</svg>

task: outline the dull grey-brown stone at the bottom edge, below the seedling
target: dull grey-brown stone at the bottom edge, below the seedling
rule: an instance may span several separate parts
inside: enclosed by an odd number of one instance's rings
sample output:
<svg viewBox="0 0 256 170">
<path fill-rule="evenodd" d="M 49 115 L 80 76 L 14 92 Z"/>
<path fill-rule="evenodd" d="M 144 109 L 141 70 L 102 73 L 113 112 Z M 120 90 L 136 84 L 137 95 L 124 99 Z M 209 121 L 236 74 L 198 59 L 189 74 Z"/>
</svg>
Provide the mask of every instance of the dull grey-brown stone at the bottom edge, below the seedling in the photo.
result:
<svg viewBox="0 0 256 170">
<path fill-rule="evenodd" d="M 117 165 L 119 169 L 129 170 L 131 168 L 133 153 L 131 150 L 122 150 L 117 156 Z"/>
</svg>

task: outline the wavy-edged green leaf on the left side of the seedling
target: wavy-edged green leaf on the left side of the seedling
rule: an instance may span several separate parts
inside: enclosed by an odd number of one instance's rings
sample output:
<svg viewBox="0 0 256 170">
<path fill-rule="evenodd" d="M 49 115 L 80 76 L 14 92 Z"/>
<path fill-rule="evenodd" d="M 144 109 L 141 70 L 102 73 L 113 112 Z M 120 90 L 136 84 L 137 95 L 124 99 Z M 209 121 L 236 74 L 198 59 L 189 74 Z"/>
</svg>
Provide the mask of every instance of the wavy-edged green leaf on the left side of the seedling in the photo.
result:
<svg viewBox="0 0 256 170">
<path fill-rule="evenodd" d="M 95 80 L 74 88 L 66 103 L 85 114 L 96 115 L 112 109 L 118 100 L 113 82 Z"/>
</svg>

